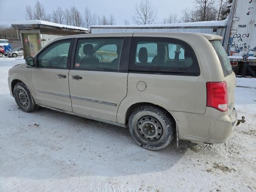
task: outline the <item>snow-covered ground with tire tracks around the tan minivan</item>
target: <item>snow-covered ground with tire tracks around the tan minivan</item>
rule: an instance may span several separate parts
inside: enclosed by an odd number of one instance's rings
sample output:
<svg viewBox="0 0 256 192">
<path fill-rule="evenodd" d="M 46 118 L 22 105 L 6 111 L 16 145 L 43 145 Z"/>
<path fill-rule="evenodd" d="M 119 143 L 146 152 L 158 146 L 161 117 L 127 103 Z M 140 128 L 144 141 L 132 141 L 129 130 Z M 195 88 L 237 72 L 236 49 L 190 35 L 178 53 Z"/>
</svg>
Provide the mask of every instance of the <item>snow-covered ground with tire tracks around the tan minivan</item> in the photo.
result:
<svg viewBox="0 0 256 192">
<path fill-rule="evenodd" d="M 224 144 L 180 141 L 138 146 L 125 128 L 46 108 L 18 109 L 0 58 L 1 192 L 256 191 L 256 78 L 238 78 L 236 109 L 246 123 Z"/>
</svg>

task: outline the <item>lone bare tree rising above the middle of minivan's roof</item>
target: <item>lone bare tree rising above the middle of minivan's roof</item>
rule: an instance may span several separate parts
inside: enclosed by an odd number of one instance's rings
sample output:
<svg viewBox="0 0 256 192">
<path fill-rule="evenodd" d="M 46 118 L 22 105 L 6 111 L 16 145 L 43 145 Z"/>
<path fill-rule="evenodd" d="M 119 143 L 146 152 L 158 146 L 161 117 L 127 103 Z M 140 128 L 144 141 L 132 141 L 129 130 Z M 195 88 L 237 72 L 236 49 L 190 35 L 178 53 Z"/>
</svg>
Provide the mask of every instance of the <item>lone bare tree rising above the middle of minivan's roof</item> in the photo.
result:
<svg viewBox="0 0 256 192">
<path fill-rule="evenodd" d="M 132 20 L 136 24 L 153 24 L 156 22 L 157 10 L 149 0 L 141 0 L 134 5 Z"/>
</svg>

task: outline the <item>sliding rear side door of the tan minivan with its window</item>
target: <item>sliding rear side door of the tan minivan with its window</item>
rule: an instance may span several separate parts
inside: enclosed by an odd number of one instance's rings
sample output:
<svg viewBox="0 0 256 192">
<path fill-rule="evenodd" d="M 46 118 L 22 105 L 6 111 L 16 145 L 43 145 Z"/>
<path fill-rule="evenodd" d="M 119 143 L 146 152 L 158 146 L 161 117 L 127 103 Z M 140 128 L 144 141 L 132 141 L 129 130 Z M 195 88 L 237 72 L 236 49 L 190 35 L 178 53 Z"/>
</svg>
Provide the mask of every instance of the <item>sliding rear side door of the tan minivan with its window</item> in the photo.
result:
<svg viewBox="0 0 256 192">
<path fill-rule="evenodd" d="M 123 38 L 78 40 L 69 72 L 73 112 L 116 122 L 127 93 L 128 71 L 120 68 L 122 44 Z"/>
</svg>

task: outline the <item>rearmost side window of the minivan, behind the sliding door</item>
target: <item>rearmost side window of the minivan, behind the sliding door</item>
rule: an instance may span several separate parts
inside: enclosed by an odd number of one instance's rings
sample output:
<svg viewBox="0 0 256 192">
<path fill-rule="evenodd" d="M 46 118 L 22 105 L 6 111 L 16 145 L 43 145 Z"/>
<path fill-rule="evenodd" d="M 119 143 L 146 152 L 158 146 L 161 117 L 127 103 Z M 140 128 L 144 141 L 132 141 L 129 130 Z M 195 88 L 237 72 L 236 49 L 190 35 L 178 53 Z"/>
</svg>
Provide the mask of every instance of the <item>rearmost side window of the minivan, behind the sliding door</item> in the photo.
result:
<svg viewBox="0 0 256 192">
<path fill-rule="evenodd" d="M 193 49 L 172 38 L 134 38 L 130 71 L 198 76 L 200 69 Z"/>
</svg>

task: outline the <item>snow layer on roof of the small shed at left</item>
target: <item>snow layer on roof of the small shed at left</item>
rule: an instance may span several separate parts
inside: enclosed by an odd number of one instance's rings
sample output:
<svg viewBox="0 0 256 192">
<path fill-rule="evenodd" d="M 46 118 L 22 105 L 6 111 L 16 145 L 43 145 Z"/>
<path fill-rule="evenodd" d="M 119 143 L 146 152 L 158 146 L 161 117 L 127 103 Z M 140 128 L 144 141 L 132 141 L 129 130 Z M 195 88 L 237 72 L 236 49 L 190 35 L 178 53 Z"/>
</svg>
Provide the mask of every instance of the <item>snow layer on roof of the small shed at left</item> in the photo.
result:
<svg viewBox="0 0 256 192">
<path fill-rule="evenodd" d="M 83 27 L 76 27 L 76 26 L 70 26 L 70 25 L 63 25 L 48 21 L 42 21 L 42 20 L 25 20 L 25 21 L 15 21 L 12 22 L 12 25 L 48 25 L 48 26 L 55 26 L 60 28 L 68 28 L 68 29 L 76 29 L 76 30 L 83 30 L 88 31 L 88 28 Z"/>
</svg>

